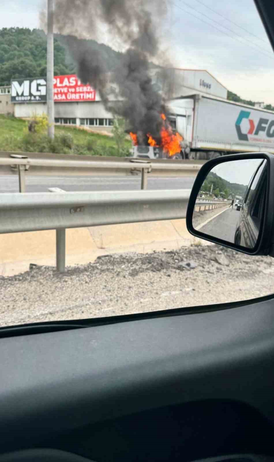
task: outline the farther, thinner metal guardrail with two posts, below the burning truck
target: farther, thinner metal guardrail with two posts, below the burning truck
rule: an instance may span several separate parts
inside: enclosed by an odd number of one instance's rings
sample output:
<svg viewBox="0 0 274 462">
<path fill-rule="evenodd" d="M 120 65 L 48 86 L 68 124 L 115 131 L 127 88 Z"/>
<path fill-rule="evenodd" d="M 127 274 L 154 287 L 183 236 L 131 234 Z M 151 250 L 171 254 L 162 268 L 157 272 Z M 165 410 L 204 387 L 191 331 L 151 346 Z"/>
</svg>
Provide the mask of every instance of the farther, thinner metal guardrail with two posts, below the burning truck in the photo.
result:
<svg viewBox="0 0 274 462">
<path fill-rule="evenodd" d="M 1 154 L 1 153 L 0 153 Z M 63 156 L 66 157 L 66 156 Z M 68 156 L 67 156 L 68 157 Z M 150 162 L 145 159 L 128 158 L 124 161 L 109 161 L 109 159 L 98 161 L 91 160 L 89 158 L 68 159 L 68 158 L 30 158 L 28 154 L 14 154 L 10 153 L 9 157 L 1 157 L 0 155 L 0 169 L 9 167 L 13 171 L 18 172 L 19 179 L 19 191 L 25 192 L 25 175 L 27 172 L 31 173 L 33 169 L 35 174 L 45 175 L 46 171 L 54 171 L 54 174 L 60 176 L 76 175 L 94 173 L 97 171 L 111 172 L 111 174 L 117 174 L 117 172 L 128 171 L 131 173 L 141 171 L 141 189 L 147 188 L 148 173 L 157 174 L 179 174 L 179 175 L 197 175 L 198 170 L 201 168 L 201 164 L 190 164 L 190 163 L 175 163 L 173 161 L 166 162 Z M 48 169 L 48 170 L 47 170 Z M 1 170 L 0 170 L 1 171 Z M 5 170 L 6 172 L 6 170 Z M 10 170 L 11 172 L 11 170 Z M 7 172 L 6 172 L 7 173 Z"/>
</svg>

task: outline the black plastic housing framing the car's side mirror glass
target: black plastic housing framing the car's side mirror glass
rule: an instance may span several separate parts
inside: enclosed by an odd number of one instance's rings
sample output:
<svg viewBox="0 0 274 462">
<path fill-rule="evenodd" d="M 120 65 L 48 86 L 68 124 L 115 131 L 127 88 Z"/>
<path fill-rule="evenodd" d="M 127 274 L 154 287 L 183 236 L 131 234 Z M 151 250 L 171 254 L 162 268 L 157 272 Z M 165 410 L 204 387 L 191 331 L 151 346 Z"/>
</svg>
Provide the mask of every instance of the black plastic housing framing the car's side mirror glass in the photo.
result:
<svg viewBox="0 0 274 462">
<path fill-rule="evenodd" d="M 256 241 L 255 246 L 252 248 L 244 247 L 243 245 L 239 245 L 238 243 L 235 243 L 237 242 L 237 239 L 235 239 L 234 242 L 230 242 L 230 241 L 227 241 L 225 238 L 222 238 L 222 235 L 220 235 L 220 233 L 218 237 L 214 237 L 212 235 L 206 234 L 205 232 L 199 231 L 199 229 L 195 229 L 195 227 L 193 226 L 193 214 L 194 214 L 195 208 L 197 207 L 196 201 L 199 196 L 199 193 L 201 192 L 202 185 L 204 184 L 211 170 L 213 170 L 214 167 L 217 167 L 220 164 L 224 164 L 222 166 L 222 170 L 224 170 L 226 167 L 225 165 L 226 162 L 233 162 L 233 161 L 236 162 L 239 160 L 248 161 L 248 159 L 262 159 L 262 161 L 265 159 L 266 161 L 264 163 L 265 164 L 264 170 L 266 170 L 264 211 L 263 211 L 262 219 L 260 222 L 260 229 L 258 232 L 257 241 Z M 235 164 L 235 168 L 237 168 L 236 166 L 237 166 L 237 163 Z M 244 198 L 243 198 L 243 201 L 244 201 Z M 237 212 L 237 213 L 240 213 L 240 212 Z M 213 219 L 211 218 L 206 221 L 208 222 L 210 220 L 213 220 Z M 197 177 L 195 179 L 195 182 L 191 190 L 191 195 L 190 195 L 190 199 L 189 199 L 189 203 L 187 207 L 187 213 L 186 213 L 186 226 L 187 226 L 187 230 L 193 236 L 200 237 L 201 239 L 205 239 L 209 242 L 220 244 L 230 249 L 234 249 L 234 250 L 243 252 L 248 255 L 274 256 L 274 155 L 269 154 L 268 152 L 230 154 L 227 156 L 214 158 L 212 160 L 209 160 L 205 164 L 203 164 L 197 174 Z M 198 226 L 197 228 L 199 227 L 201 226 Z M 216 235 L 218 235 L 218 233 L 216 233 Z"/>
</svg>

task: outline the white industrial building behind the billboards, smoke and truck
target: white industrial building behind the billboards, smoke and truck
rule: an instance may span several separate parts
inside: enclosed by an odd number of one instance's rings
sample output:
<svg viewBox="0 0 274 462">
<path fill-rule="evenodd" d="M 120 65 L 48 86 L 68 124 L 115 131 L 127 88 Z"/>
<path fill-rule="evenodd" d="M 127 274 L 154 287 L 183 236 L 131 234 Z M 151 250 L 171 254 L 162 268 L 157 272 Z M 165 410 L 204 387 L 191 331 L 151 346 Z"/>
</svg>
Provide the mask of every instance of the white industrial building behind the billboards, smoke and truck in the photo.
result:
<svg viewBox="0 0 274 462">
<path fill-rule="evenodd" d="M 211 95 L 226 99 L 227 89 L 215 79 L 208 71 L 199 69 L 170 69 L 171 95 L 182 97 L 193 94 Z M 159 91 L 161 86 L 161 73 L 159 69 L 151 69 L 153 83 Z M 14 103 L 14 116 L 30 118 L 34 114 L 41 115 L 47 112 L 45 102 L 18 102 Z M 99 130 L 111 130 L 113 115 L 104 108 L 104 105 L 95 93 L 94 101 L 55 102 L 55 123 L 96 127 Z"/>
</svg>

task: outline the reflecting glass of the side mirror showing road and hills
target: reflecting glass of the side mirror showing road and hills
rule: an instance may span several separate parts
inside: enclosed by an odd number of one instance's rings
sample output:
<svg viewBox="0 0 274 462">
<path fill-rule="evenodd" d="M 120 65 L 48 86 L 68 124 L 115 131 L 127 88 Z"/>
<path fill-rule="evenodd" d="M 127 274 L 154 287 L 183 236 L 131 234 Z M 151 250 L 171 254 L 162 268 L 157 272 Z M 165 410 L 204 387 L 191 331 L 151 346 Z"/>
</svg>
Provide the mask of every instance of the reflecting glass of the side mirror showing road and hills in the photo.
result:
<svg viewBox="0 0 274 462">
<path fill-rule="evenodd" d="M 253 249 L 264 216 L 266 184 L 265 159 L 220 160 L 200 188 L 193 228 L 208 237 Z"/>
</svg>

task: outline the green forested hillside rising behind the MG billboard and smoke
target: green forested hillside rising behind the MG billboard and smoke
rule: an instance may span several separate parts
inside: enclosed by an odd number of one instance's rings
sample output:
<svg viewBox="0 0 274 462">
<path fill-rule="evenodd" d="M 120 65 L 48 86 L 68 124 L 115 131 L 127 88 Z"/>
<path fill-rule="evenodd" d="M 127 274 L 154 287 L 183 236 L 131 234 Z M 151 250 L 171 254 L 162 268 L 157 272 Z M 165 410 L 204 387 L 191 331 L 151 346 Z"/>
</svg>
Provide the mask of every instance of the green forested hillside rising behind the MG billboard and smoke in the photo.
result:
<svg viewBox="0 0 274 462">
<path fill-rule="evenodd" d="M 62 45 L 64 37 L 54 38 L 54 75 L 76 72 L 66 48 Z M 89 40 L 93 46 L 100 47 L 105 62 L 111 69 L 119 53 L 110 47 Z M 43 77 L 47 75 L 47 39 L 43 30 L 24 28 L 0 29 L 0 86 L 9 85 L 11 79 L 22 77 Z"/>
</svg>

